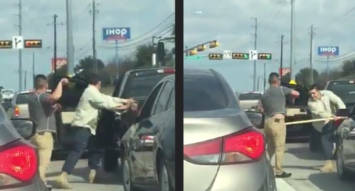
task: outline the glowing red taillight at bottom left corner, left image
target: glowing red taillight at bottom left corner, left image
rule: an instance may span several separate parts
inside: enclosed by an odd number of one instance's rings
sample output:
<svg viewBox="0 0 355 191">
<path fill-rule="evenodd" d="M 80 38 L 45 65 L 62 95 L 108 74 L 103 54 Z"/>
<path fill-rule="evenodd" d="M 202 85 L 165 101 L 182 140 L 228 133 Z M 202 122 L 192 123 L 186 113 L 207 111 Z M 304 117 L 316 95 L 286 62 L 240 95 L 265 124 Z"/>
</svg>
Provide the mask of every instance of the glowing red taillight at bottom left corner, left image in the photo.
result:
<svg viewBox="0 0 355 191">
<path fill-rule="evenodd" d="M 35 148 L 16 142 L 0 148 L 0 186 L 32 180 L 38 169 Z"/>
</svg>

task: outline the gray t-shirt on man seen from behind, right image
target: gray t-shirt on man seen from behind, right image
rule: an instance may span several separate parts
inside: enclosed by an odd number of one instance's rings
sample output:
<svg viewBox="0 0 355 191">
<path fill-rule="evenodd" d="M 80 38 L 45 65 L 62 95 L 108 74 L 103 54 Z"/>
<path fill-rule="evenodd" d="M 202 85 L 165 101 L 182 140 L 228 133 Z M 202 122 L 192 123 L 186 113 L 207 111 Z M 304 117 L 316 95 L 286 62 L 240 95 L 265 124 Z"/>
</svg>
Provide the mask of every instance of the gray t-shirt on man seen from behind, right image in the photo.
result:
<svg viewBox="0 0 355 191">
<path fill-rule="evenodd" d="M 261 104 L 264 109 L 266 118 L 270 118 L 275 114 L 286 114 L 286 97 L 291 94 L 292 90 L 287 87 L 270 86 L 261 98 Z"/>
</svg>

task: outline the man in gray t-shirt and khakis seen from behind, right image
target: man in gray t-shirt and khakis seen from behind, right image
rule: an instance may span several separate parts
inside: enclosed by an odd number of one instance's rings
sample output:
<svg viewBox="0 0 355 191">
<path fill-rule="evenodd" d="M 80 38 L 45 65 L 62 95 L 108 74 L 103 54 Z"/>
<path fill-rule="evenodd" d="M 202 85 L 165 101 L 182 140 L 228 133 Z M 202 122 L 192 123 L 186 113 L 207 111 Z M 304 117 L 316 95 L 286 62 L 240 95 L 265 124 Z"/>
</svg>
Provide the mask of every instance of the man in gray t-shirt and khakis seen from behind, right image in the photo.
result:
<svg viewBox="0 0 355 191">
<path fill-rule="evenodd" d="M 274 72 L 269 76 L 269 84 L 270 87 L 261 98 L 261 110 L 265 115 L 264 133 L 267 152 L 270 160 L 275 154 L 275 176 L 285 178 L 292 175 L 283 171 L 281 167 L 286 143 L 286 98 L 288 96 L 298 97 L 299 93 L 280 86 L 280 76 Z"/>
</svg>

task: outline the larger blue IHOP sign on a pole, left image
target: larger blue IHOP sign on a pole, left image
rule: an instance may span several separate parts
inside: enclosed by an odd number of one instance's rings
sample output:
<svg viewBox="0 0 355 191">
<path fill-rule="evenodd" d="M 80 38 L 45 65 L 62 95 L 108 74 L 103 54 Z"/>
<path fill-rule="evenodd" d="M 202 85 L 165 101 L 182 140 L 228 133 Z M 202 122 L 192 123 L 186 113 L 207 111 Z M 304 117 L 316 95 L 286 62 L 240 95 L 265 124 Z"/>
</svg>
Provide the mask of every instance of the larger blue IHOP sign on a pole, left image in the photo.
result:
<svg viewBox="0 0 355 191">
<path fill-rule="evenodd" d="M 128 40 L 131 38 L 131 30 L 129 27 L 103 28 L 102 40 Z"/>
</svg>

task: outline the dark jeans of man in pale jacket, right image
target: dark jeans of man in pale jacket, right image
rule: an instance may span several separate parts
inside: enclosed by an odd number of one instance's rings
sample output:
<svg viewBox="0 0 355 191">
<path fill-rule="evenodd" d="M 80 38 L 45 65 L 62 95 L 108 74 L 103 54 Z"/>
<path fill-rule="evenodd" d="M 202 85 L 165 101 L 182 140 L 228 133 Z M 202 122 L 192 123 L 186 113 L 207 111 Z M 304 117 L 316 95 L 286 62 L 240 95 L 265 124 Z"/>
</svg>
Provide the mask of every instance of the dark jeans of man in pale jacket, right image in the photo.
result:
<svg viewBox="0 0 355 191">
<path fill-rule="evenodd" d="M 334 128 L 332 122 L 329 122 L 324 125 L 322 128 L 321 134 L 321 142 L 324 151 L 325 160 L 334 160 L 333 151 L 333 142 L 334 139 Z"/>
</svg>

